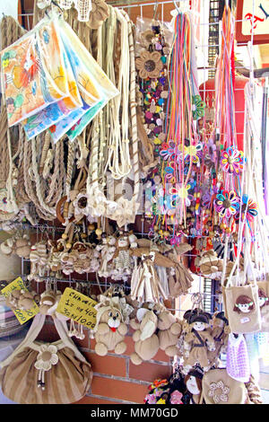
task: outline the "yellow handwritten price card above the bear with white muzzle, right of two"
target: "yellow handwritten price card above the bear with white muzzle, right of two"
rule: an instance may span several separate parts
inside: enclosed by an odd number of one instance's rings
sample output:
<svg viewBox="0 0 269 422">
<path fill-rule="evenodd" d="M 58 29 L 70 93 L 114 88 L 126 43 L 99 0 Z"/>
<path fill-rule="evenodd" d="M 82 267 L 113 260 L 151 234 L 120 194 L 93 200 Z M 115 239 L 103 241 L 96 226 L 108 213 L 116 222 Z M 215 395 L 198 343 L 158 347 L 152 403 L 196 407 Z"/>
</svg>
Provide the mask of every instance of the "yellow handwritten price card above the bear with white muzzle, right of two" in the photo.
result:
<svg viewBox="0 0 269 422">
<path fill-rule="evenodd" d="M 94 329 L 96 324 L 96 309 L 94 306 L 97 302 L 91 297 L 82 295 L 73 288 L 66 287 L 56 312 L 62 313 L 71 320 L 82 324 L 87 329 Z"/>
</svg>

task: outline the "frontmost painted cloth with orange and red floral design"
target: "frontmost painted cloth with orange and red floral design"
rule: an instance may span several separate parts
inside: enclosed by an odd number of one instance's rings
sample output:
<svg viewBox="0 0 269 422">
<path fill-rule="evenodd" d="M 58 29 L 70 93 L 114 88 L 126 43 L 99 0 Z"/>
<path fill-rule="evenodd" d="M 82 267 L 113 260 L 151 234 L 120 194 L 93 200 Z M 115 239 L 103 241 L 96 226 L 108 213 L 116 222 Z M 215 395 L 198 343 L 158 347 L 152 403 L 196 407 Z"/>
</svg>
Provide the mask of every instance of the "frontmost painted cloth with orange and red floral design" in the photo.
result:
<svg viewBox="0 0 269 422">
<path fill-rule="evenodd" d="M 57 18 L 44 18 L 1 53 L 9 127 L 69 95 Z"/>
</svg>

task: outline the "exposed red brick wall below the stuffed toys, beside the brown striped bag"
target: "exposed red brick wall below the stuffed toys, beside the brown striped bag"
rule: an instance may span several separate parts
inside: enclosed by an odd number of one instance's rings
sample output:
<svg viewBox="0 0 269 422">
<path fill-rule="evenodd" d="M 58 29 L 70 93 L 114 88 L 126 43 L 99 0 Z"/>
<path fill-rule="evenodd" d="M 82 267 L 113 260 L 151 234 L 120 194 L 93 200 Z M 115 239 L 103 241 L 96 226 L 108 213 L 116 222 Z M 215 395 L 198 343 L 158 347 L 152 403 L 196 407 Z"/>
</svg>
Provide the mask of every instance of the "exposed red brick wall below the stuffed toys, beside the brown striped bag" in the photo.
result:
<svg viewBox="0 0 269 422">
<path fill-rule="evenodd" d="M 58 334 L 53 321 L 47 319 L 48 323 L 41 330 L 39 339 L 53 342 L 58 339 Z M 96 355 L 95 340 L 90 338 L 89 330 L 84 330 L 85 338 L 82 340 L 73 338 L 82 355 L 91 363 L 94 373 L 90 391 L 77 401 L 78 404 L 143 403 L 149 383 L 156 378 L 167 378 L 172 373 L 171 359 L 161 350 L 150 361 L 141 365 L 132 364 L 130 355 L 134 352 L 134 341 L 131 331 L 129 329 L 125 340 L 126 354 L 120 356 L 114 353 Z"/>
</svg>

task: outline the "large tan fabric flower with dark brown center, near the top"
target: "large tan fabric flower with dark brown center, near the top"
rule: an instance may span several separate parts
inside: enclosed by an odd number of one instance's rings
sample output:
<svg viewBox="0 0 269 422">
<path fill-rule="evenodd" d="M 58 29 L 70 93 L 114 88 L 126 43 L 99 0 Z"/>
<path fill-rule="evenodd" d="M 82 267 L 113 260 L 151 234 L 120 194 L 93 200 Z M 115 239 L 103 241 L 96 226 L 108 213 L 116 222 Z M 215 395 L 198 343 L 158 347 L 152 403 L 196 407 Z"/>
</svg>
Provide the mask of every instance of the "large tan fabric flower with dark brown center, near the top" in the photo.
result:
<svg viewBox="0 0 269 422">
<path fill-rule="evenodd" d="M 143 50 L 140 57 L 136 58 L 135 65 L 142 79 L 158 78 L 163 67 L 161 54 L 158 51 Z"/>
</svg>

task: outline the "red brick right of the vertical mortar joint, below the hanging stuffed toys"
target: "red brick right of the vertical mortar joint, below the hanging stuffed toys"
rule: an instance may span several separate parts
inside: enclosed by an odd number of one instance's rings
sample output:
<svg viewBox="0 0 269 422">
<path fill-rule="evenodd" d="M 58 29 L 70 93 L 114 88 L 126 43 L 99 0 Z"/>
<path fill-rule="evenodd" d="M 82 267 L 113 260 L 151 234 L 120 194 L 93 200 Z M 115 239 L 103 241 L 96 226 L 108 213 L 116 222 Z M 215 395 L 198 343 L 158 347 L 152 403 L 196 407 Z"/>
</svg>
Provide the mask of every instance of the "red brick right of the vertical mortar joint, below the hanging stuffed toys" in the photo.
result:
<svg viewBox="0 0 269 422">
<path fill-rule="evenodd" d="M 141 365 L 134 365 L 130 362 L 129 377 L 135 380 L 153 382 L 157 378 L 168 379 L 172 374 L 172 367 L 168 365 L 152 364 L 143 362 Z"/>
</svg>

